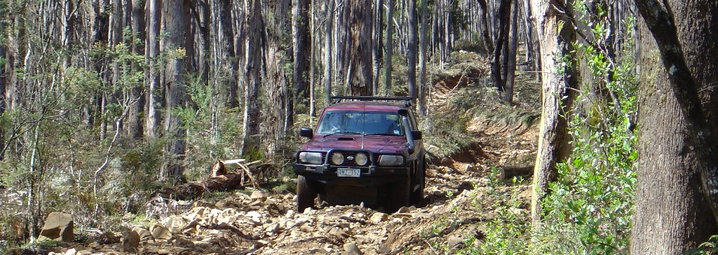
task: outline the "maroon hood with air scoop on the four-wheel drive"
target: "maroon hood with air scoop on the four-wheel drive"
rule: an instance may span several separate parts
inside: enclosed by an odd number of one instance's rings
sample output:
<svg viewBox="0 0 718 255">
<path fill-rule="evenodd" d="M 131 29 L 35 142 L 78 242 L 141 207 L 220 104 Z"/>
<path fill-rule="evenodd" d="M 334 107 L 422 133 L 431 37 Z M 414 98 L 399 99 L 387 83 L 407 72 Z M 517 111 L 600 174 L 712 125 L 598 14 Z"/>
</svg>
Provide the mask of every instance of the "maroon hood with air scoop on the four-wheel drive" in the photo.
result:
<svg viewBox="0 0 718 255">
<path fill-rule="evenodd" d="M 364 136 L 363 149 L 373 153 L 406 154 L 406 137 L 404 136 Z M 330 150 L 330 149 L 362 149 L 362 135 L 331 135 L 314 136 L 304 144 L 304 150 Z"/>
</svg>

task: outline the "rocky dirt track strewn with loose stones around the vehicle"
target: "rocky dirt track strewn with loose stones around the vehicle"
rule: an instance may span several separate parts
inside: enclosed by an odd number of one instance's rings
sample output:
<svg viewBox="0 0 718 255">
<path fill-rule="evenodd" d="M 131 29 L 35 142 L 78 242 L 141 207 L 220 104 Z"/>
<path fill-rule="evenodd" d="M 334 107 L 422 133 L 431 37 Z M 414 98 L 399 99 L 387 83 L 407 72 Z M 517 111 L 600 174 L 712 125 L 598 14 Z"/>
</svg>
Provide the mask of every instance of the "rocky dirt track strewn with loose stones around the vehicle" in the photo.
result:
<svg viewBox="0 0 718 255">
<path fill-rule="evenodd" d="M 451 254 L 470 237 L 482 236 L 482 222 L 505 208 L 505 195 L 522 200 L 510 212 L 528 214 L 531 189 L 490 185 L 505 178 L 489 167 L 515 162 L 533 152 L 536 131 L 521 125 L 474 121 L 477 142 L 470 151 L 442 159 L 427 170 L 426 198 L 397 213 L 360 205 L 323 206 L 295 212 L 294 195 L 235 192 L 215 203 L 153 203 L 157 215 L 149 227 L 103 233 L 84 244 L 62 246 L 57 254 Z M 488 128 L 488 126 L 498 126 Z M 482 131 L 476 131 L 482 130 Z M 497 145 L 498 144 L 498 145 Z M 518 152 L 518 153 L 517 153 Z M 504 182 L 508 183 L 508 182 Z"/>
</svg>

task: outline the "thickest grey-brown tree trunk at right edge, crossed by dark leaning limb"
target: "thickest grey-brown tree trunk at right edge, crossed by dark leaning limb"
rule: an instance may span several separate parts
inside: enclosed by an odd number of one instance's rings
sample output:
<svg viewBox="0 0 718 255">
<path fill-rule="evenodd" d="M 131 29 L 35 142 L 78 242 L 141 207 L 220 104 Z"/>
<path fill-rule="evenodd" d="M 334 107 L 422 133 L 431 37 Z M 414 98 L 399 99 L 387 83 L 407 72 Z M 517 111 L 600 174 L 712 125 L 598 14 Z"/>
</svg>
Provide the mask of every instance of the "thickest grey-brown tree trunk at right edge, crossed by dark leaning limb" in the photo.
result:
<svg viewBox="0 0 718 255">
<path fill-rule="evenodd" d="M 718 229 L 718 6 L 664 3 L 635 1 L 645 22 L 632 254 L 684 254 Z"/>
</svg>

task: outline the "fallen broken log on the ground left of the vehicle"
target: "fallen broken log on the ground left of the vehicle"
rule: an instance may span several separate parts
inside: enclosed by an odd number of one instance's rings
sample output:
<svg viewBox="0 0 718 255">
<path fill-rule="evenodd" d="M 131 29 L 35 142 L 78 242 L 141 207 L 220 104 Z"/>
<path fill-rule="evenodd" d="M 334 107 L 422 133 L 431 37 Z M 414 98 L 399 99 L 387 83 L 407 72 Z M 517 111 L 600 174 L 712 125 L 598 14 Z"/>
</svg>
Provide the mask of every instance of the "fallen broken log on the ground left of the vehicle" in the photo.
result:
<svg viewBox="0 0 718 255">
<path fill-rule="evenodd" d="M 244 187 L 245 177 L 249 180 L 254 188 L 259 186 L 255 176 L 263 175 L 271 164 L 258 164 L 260 161 L 245 163 L 245 159 L 220 160 L 216 162 L 210 169 L 211 175 L 208 180 L 190 182 L 184 185 L 166 187 L 149 196 L 150 200 L 157 197 L 173 200 L 188 200 L 197 198 L 205 191 L 222 191 L 234 190 L 238 187 Z M 226 164 L 238 164 L 240 172 L 227 172 Z M 258 164 L 251 167 L 253 164 Z M 263 176 L 263 179 L 266 178 Z M 266 182 L 266 180 L 263 180 Z"/>
</svg>

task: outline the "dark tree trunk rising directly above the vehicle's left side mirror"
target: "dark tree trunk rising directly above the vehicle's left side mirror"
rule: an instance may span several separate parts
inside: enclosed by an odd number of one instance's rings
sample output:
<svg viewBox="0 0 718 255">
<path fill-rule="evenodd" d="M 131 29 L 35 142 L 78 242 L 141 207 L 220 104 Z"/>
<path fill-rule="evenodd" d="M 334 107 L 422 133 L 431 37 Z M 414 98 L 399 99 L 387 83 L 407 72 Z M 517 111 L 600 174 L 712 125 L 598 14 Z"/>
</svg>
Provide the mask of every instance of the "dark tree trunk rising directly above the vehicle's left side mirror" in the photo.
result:
<svg viewBox="0 0 718 255">
<path fill-rule="evenodd" d="M 292 6 L 292 31 L 294 32 L 294 90 L 287 103 L 287 127 L 294 125 L 294 102 L 306 105 L 309 96 L 309 0 L 294 0 Z M 301 97 L 301 98 L 300 98 Z"/>
</svg>

